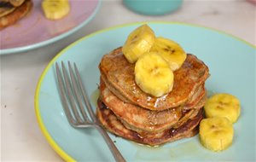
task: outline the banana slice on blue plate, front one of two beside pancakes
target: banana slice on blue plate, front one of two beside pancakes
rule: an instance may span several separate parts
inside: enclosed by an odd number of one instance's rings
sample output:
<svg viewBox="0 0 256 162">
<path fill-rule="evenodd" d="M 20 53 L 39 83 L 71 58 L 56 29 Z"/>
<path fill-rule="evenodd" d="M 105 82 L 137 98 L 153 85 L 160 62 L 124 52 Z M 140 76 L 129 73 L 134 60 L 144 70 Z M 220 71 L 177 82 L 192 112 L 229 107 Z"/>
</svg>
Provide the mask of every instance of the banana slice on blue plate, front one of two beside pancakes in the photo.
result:
<svg viewBox="0 0 256 162">
<path fill-rule="evenodd" d="M 199 128 L 201 144 L 212 151 L 229 148 L 233 141 L 234 129 L 229 119 L 202 119 Z"/>
</svg>

